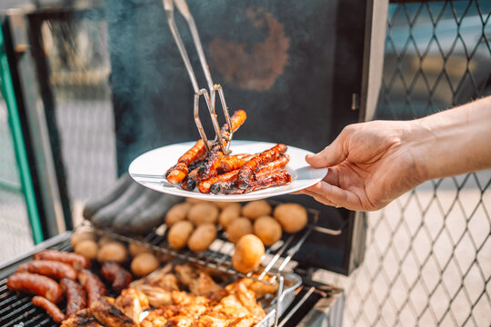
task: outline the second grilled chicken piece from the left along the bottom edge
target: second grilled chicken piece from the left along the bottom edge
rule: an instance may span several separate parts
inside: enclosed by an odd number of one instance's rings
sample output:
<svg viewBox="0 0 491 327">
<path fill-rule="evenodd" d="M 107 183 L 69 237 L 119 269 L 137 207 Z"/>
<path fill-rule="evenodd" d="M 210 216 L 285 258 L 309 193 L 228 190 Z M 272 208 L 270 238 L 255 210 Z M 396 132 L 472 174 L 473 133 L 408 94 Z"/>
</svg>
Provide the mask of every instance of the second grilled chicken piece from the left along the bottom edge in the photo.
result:
<svg viewBox="0 0 491 327">
<path fill-rule="evenodd" d="M 126 316 L 125 313 L 105 300 L 104 297 L 99 297 L 95 300 L 90 305 L 90 310 L 95 319 L 106 327 L 138 327 L 137 322 Z"/>
</svg>

